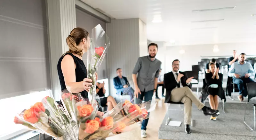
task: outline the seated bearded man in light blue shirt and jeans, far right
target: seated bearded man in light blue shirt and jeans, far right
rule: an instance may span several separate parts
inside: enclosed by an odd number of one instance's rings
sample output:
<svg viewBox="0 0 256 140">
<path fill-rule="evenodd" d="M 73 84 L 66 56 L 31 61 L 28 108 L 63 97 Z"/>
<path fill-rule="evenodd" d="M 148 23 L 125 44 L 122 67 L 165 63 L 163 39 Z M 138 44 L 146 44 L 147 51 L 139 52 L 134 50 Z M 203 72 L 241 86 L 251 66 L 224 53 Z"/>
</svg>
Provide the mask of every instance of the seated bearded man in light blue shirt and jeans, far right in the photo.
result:
<svg viewBox="0 0 256 140">
<path fill-rule="evenodd" d="M 252 68 L 252 65 L 245 61 L 245 53 L 241 53 L 238 59 L 239 61 L 231 65 L 228 76 L 233 76 L 233 83 L 237 84 L 239 89 L 240 95 L 238 96 L 238 99 L 240 101 L 244 101 L 244 97 L 248 95 L 246 84 L 254 82 L 250 78 L 250 76 L 254 75 L 254 70 Z"/>
</svg>

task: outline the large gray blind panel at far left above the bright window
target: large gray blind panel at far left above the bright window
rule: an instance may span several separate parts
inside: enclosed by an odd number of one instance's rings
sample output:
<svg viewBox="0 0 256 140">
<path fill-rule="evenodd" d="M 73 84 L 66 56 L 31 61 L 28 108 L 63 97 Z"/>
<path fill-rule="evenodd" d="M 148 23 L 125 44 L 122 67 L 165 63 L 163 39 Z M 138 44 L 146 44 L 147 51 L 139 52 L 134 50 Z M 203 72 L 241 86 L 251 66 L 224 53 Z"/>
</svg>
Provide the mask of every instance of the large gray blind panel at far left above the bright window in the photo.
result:
<svg viewBox="0 0 256 140">
<path fill-rule="evenodd" d="M 0 99 L 50 88 L 45 0 L 0 5 Z"/>
</svg>

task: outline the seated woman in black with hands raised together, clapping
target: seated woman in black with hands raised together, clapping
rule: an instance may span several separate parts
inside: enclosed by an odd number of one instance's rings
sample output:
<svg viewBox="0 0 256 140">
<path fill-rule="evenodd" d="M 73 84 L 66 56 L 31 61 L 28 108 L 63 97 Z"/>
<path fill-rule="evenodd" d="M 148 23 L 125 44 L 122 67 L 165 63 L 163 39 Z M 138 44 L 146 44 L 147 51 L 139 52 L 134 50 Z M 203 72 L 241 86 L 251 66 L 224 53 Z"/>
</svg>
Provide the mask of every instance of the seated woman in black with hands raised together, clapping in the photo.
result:
<svg viewBox="0 0 256 140">
<path fill-rule="evenodd" d="M 216 64 L 209 64 L 210 73 L 205 74 L 206 87 L 203 90 L 203 101 L 209 98 L 209 103 L 212 109 L 218 109 L 219 97 L 225 99 L 224 90 L 222 88 L 223 74 L 219 73 L 219 68 Z M 216 121 L 216 116 L 211 116 L 211 120 Z"/>
</svg>

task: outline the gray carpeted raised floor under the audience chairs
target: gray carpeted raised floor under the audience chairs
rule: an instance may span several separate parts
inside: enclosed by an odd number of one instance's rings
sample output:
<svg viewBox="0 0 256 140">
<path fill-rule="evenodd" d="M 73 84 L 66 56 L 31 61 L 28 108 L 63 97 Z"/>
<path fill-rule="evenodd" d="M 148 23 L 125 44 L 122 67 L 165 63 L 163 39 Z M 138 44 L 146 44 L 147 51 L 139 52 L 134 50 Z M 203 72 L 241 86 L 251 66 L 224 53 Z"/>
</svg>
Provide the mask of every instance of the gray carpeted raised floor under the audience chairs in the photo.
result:
<svg viewBox="0 0 256 140">
<path fill-rule="evenodd" d="M 256 140 L 256 131 L 251 131 L 243 123 L 244 106 L 245 103 L 225 103 L 226 113 L 223 113 L 219 107 L 220 115 L 217 117 L 217 121 L 212 121 L 210 116 L 205 116 L 193 105 L 191 134 L 184 132 L 183 111 L 169 110 L 172 120 L 181 121 L 181 126 L 166 126 L 167 116 L 165 116 L 159 128 L 158 137 L 170 140 Z M 172 105 L 171 108 L 183 108 L 183 105 Z M 251 127 L 253 127 L 252 108 L 252 105 L 248 105 L 245 120 Z"/>
</svg>

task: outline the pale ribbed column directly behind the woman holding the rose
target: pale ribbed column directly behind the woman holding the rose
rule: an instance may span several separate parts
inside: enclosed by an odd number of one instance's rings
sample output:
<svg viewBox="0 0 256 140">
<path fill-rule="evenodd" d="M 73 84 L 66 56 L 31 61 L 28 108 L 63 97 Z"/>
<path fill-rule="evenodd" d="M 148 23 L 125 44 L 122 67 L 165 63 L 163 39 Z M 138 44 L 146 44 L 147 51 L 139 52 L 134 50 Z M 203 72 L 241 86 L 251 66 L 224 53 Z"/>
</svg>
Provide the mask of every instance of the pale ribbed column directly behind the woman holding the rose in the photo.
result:
<svg viewBox="0 0 256 140">
<path fill-rule="evenodd" d="M 57 63 L 68 51 L 66 38 L 76 27 L 75 0 L 46 0 L 48 45 L 50 53 L 51 89 L 56 101 L 60 101 L 60 81 Z"/>
</svg>

